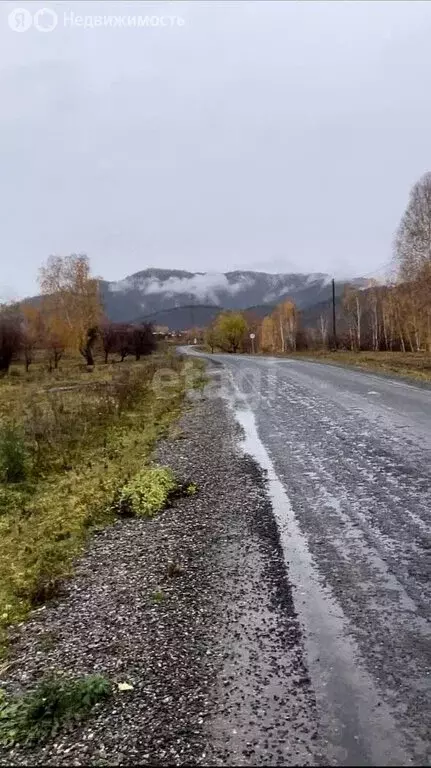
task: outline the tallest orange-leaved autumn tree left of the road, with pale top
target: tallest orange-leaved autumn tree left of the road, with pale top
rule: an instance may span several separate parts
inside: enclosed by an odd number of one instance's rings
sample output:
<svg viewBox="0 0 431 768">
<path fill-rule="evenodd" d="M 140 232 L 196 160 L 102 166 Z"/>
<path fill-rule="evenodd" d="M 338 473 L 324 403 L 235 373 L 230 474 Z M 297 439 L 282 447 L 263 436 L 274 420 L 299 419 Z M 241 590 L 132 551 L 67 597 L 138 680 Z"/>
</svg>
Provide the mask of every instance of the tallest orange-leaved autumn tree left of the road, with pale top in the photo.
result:
<svg viewBox="0 0 431 768">
<path fill-rule="evenodd" d="M 50 323 L 61 328 L 66 347 L 93 365 L 93 349 L 102 319 L 98 281 L 91 277 L 84 254 L 50 256 L 40 270 L 40 286 Z"/>
</svg>

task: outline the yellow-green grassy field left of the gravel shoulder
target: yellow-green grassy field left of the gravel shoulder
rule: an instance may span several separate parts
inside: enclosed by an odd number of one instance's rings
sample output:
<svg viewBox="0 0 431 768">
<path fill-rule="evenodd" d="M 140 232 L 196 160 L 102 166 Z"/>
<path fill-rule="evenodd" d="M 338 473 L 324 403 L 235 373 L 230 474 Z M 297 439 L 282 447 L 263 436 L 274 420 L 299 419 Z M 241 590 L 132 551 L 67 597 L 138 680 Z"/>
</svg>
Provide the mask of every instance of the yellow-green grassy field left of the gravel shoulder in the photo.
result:
<svg viewBox="0 0 431 768">
<path fill-rule="evenodd" d="M 114 521 L 122 493 L 135 494 L 132 514 L 165 504 L 174 479 L 151 467 L 151 454 L 193 385 L 190 364 L 155 353 L 89 372 L 72 359 L 0 379 L 3 650 L 6 627 L 56 593 L 89 533 Z"/>
</svg>

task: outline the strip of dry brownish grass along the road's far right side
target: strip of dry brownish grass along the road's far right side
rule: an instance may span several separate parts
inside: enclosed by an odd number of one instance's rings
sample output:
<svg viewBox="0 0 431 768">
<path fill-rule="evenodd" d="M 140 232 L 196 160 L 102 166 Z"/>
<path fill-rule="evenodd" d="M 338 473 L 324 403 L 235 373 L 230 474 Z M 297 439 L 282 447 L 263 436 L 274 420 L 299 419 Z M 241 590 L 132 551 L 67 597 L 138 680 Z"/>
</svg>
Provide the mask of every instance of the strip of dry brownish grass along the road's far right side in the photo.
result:
<svg viewBox="0 0 431 768">
<path fill-rule="evenodd" d="M 337 350 L 306 350 L 289 357 L 316 358 L 327 363 L 361 368 L 380 373 L 408 376 L 417 381 L 431 382 L 431 355 L 426 352 L 350 352 Z"/>
</svg>

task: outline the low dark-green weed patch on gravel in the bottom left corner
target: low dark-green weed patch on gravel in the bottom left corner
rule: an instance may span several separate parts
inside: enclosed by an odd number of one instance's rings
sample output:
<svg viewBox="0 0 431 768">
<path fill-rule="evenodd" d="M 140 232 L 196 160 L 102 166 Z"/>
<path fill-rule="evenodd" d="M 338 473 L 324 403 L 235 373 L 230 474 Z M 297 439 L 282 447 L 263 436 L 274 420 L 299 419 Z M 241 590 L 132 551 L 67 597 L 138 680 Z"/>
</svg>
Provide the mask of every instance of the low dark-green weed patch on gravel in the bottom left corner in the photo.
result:
<svg viewBox="0 0 431 768">
<path fill-rule="evenodd" d="M 24 694 L 0 696 L 0 744 L 31 744 L 54 736 L 61 725 L 81 720 L 101 699 L 111 693 L 111 684 L 101 675 L 76 680 L 47 678 Z"/>
</svg>

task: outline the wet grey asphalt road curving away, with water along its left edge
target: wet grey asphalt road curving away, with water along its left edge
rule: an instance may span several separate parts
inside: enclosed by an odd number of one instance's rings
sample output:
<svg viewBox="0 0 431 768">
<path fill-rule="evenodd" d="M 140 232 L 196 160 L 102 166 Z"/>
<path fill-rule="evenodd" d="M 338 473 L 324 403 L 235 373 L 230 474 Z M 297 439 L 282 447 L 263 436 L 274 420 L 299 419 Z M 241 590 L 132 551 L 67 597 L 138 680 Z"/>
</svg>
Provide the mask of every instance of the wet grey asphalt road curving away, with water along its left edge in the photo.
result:
<svg viewBox="0 0 431 768">
<path fill-rule="evenodd" d="M 429 763 L 431 391 L 306 361 L 208 359 L 268 474 L 328 760 Z"/>
</svg>

